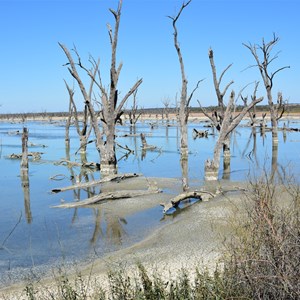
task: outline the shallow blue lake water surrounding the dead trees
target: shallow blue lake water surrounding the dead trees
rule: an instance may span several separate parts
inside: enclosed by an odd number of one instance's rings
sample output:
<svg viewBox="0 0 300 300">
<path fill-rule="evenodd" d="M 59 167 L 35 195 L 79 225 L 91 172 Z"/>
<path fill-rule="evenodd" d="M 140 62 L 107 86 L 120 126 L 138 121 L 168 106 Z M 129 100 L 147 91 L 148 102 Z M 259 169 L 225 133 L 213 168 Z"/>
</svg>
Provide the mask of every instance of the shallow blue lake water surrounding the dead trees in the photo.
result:
<svg viewBox="0 0 300 300">
<path fill-rule="evenodd" d="M 189 166 L 188 174 L 191 184 L 202 185 L 204 162 L 212 157 L 216 137 L 193 139 L 192 130 L 204 130 L 204 122 L 189 124 Z M 293 121 L 291 127 L 299 127 Z M 157 150 L 142 153 L 139 137 L 122 137 L 130 133 L 128 126 L 119 126 L 117 142 L 135 150 L 134 155 L 123 157 L 124 150 L 118 148 L 118 170 L 120 173 L 136 172 L 146 177 L 181 178 L 182 170 L 179 155 L 179 129 L 175 124 L 165 124 L 153 129 L 149 123 L 139 123 L 136 133 L 146 133 L 148 144 Z M 174 125 L 174 126 L 173 126 Z M 37 146 L 29 151 L 43 152 L 40 161 L 29 164 L 29 194 L 26 196 L 20 177 L 20 160 L 7 159 L 12 153 L 21 153 L 21 135 L 23 126 L 29 130 L 29 142 Z M 211 132 L 211 129 L 208 129 Z M 25 124 L 0 123 L 0 285 L 23 279 L 26 272 L 35 267 L 43 272 L 49 265 L 62 260 L 85 261 L 101 257 L 105 253 L 120 249 L 141 240 L 154 229 L 172 218 L 163 218 L 158 204 L 146 209 L 128 213 L 126 216 L 112 213 L 101 206 L 95 208 L 53 209 L 52 205 L 61 199 L 73 200 L 87 197 L 86 191 L 67 191 L 63 194 L 51 194 L 56 187 L 72 184 L 70 177 L 80 174 L 80 168 L 67 168 L 55 162 L 66 157 L 65 128 L 61 124 L 44 122 L 27 122 Z M 79 142 L 75 128 L 70 132 L 70 159 L 80 160 L 75 155 Z M 277 168 L 288 170 L 296 176 L 300 170 L 299 132 L 279 132 L 279 149 Z M 42 147 L 45 145 L 46 147 Z M 254 151 L 255 145 L 255 151 Z M 250 128 L 238 127 L 232 136 L 231 172 L 223 174 L 220 180 L 244 181 L 250 175 L 259 175 L 272 167 L 271 133 L 264 137 L 257 131 L 256 142 Z M 88 161 L 98 161 L 93 144 L 88 146 Z M 221 162 L 222 165 L 222 162 Z M 274 168 L 274 161 L 273 161 Z M 50 178 L 60 174 L 62 180 Z M 98 179 L 99 172 L 85 174 L 88 180 Z M 171 192 L 166 187 L 164 192 Z M 95 188 L 94 192 L 99 192 Z M 20 223 L 18 224 L 18 220 Z M 13 228 L 16 228 L 13 230 Z M 14 274 L 14 275 L 12 275 Z M 18 276 L 16 276 L 18 274 Z M 13 276 L 13 278 L 11 278 Z"/>
</svg>

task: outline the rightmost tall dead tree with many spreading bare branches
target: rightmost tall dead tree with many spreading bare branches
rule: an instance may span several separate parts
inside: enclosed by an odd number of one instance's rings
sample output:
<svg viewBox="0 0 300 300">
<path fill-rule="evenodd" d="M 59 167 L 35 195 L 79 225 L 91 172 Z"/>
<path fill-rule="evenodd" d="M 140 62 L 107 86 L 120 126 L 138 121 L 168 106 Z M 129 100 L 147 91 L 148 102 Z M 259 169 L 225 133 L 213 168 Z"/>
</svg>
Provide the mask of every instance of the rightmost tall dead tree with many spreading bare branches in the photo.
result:
<svg viewBox="0 0 300 300">
<path fill-rule="evenodd" d="M 261 74 L 264 82 L 264 86 L 267 92 L 269 110 L 271 115 L 272 124 L 272 140 L 274 143 L 278 143 L 278 120 L 282 117 L 285 111 L 285 103 L 282 100 L 282 95 L 278 95 L 277 103 L 273 101 L 272 89 L 274 84 L 274 76 L 280 71 L 289 68 L 290 66 L 285 66 L 276 69 L 274 72 L 270 71 L 270 64 L 278 58 L 278 52 L 271 56 L 273 48 L 277 45 L 279 38 L 274 34 L 273 39 L 266 43 L 262 39 L 262 44 L 243 44 L 248 48 L 255 59 L 256 64 L 250 67 L 257 67 Z"/>
</svg>

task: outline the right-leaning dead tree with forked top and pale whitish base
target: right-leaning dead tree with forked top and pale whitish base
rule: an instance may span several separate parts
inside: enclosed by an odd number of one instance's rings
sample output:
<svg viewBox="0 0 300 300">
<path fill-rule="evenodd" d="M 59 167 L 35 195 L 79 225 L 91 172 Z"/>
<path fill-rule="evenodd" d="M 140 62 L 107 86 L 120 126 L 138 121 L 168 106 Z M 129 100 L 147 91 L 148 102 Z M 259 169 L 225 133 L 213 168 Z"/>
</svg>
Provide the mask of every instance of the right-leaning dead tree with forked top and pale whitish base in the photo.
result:
<svg viewBox="0 0 300 300">
<path fill-rule="evenodd" d="M 261 102 L 263 100 L 263 97 L 260 97 L 258 99 L 253 99 L 252 102 L 245 106 L 243 110 L 234 118 L 232 117 L 232 111 L 234 109 L 235 105 L 235 93 L 234 91 L 230 94 L 229 103 L 226 107 L 226 110 L 224 112 L 224 119 L 222 121 L 220 130 L 219 130 L 219 137 L 217 140 L 217 143 L 214 147 L 214 156 L 213 159 L 208 159 L 205 162 L 205 179 L 206 180 L 217 180 L 218 178 L 218 172 L 220 167 L 220 155 L 221 155 L 221 149 L 224 147 L 224 143 L 228 140 L 228 136 L 231 134 L 231 132 L 239 125 L 245 114 L 252 109 L 254 105 Z"/>
</svg>

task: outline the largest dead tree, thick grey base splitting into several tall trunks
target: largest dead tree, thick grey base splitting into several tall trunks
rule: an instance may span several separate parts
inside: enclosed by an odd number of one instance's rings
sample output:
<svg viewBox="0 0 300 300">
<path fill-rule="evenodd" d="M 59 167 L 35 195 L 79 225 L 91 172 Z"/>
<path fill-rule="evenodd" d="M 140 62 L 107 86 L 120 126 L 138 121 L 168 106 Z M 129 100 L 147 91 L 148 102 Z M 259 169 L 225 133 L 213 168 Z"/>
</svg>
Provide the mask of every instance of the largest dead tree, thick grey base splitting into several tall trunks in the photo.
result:
<svg viewBox="0 0 300 300">
<path fill-rule="evenodd" d="M 101 174 L 115 174 L 117 173 L 117 159 L 116 159 L 116 151 L 115 151 L 115 126 L 117 121 L 120 120 L 121 115 L 123 114 L 123 107 L 127 101 L 127 99 L 134 93 L 134 91 L 139 87 L 142 83 L 142 79 L 139 79 L 132 88 L 125 94 L 125 96 L 119 102 L 118 96 L 118 80 L 119 75 L 122 69 L 122 63 L 117 66 L 116 63 L 116 52 L 118 45 L 118 33 L 119 33 L 119 25 L 121 18 L 121 8 L 122 8 L 122 0 L 119 0 L 117 11 L 110 9 L 114 20 L 115 27 L 114 31 L 111 26 L 108 24 L 108 33 L 110 38 L 111 45 L 111 65 L 110 65 L 110 85 L 109 91 L 107 91 L 102 84 L 100 72 L 99 72 L 99 60 L 90 60 L 92 64 L 92 70 L 87 69 L 81 63 L 81 59 L 76 52 L 78 62 L 75 63 L 72 55 L 70 54 L 68 48 L 62 44 L 59 44 L 63 49 L 64 53 L 68 59 L 68 70 L 71 75 L 75 78 L 78 86 L 81 90 L 81 93 L 84 98 L 84 103 L 87 105 L 91 123 L 93 126 L 93 130 L 96 136 L 96 148 L 99 152 L 100 157 L 100 167 Z M 77 67 L 83 69 L 87 75 L 94 81 L 94 85 L 100 91 L 101 95 L 101 123 L 102 127 L 100 129 L 98 125 L 98 114 L 93 106 L 92 99 L 89 93 L 86 90 L 86 87 L 78 74 Z"/>
</svg>

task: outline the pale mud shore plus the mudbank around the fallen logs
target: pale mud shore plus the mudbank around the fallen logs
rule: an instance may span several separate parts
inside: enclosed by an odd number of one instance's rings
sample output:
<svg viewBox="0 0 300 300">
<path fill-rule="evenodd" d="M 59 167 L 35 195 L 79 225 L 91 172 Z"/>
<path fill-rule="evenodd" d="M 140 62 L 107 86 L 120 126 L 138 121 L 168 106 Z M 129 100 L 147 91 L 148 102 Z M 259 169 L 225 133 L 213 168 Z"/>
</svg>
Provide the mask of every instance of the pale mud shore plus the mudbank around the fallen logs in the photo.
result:
<svg viewBox="0 0 300 300">
<path fill-rule="evenodd" d="M 125 268 L 134 272 L 138 262 L 148 270 L 158 272 L 166 278 L 176 275 L 181 268 L 195 271 L 199 268 L 213 270 L 219 261 L 223 249 L 223 241 L 230 235 L 228 220 L 236 213 L 243 201 L 243 193 L 238 189 L 243 184 L 233 182 L 191 182 L 192 189 L 203 189 L 215 192 L 220 186 L 225 191 L 207 202 L 186 203 L 185 207 L 170 215 L 163 215 L 169 222 L 150 234 L 139 243 L 125 249 L 108 253 L 95 259 L 89 265 L 76 265 L 83 274 L 92 273 L 96 278 L 107 283 L 109 270 Z M 141 198 L 108 201 L 102 204 L 120 217 L 146 210 L 167 202 L 181 192 L 180 179 L 138 177 L 120 183 L 105 184 L 102 190 L 142 189 L 156 187 L 164 192 Z M 71 268 L 70 268 L 71 269 Z M 40 280 L 39 285 L 51 286 L 53 277 Z M 0 290 L 0 299 L 22 299 L 24 283 L 15 284 Z"/>
</svg>

